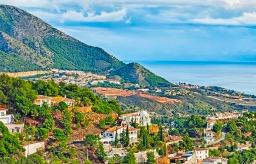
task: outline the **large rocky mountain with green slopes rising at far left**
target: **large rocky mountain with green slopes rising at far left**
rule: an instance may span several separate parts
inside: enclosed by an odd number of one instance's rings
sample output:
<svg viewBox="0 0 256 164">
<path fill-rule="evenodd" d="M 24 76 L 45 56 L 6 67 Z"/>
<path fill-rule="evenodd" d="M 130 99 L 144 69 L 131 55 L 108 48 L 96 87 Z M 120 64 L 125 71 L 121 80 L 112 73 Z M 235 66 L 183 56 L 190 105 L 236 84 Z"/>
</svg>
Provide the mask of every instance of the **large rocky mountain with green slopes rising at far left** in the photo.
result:
<svg viewBox="0 0 256 164">
<path fill-rule="evenodd" d="M 1 63 L 0 71 L 57 68 L 102 74 L 125 65 L 102 48 L 82 43 L 11 5 L 0 5 L 0 50 L 5 52 L 1 58 L 8 54 L 22 61 Z M 32 65 L 19 69 L 24 62 Z"/>
</svg>

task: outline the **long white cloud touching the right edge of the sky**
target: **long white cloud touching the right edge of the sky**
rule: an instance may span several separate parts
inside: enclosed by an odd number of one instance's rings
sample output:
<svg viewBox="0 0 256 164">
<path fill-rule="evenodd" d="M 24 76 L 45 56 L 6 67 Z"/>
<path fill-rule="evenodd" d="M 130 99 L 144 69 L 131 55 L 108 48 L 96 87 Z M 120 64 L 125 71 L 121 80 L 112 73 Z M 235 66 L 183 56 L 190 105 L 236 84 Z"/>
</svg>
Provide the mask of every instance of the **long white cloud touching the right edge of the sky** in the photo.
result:
<svg viewBox="0 0 256 164">
<path fill-rule="evenodd" d="M 212 17 L 196 18 L 191 20 L 192 23 L 196 24 L 208 24 L 208 25 L 256 25 L 256 12 L 243 12 L 241 16 L 232 17 L 230 19 Z"/>
</svg>

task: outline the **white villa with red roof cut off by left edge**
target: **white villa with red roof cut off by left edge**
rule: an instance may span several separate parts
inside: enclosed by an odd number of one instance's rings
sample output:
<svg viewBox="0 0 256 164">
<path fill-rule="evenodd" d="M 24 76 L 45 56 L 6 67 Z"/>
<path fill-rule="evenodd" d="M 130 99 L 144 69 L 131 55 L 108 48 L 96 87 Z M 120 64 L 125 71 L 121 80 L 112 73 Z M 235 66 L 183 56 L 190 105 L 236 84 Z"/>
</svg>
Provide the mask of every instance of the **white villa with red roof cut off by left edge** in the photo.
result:
<svg viewBox="0 0 256 164">
<path fill-rule="evenodd" d="M 21 133 L 22 129 L 24 128 L 24 124 L 12 124 L 12 121 L 14 121 L 14 115 L 7 115 L 7 110 L 8 109 L 0 108 L 0 121 L 4 123 L 4 125 L 8 128 L 8 130 L 11 133 Z"/>
</svg>

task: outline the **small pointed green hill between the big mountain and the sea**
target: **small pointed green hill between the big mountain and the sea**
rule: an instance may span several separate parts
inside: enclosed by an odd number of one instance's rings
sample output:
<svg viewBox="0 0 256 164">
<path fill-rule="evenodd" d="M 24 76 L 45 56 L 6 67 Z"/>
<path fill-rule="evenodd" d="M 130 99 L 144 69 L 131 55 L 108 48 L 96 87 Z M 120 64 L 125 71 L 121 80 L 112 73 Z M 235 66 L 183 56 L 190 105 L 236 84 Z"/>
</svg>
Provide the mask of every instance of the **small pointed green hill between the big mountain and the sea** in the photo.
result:
<svg viewBox="0 0 256 164">
<path fill-rule="evenodd" d="M 112 74 L 142 86 L 165 87 L 171 85 L 170 82 L 155 75 L 138 63 L 129 63 L 118 70 L 112 71 Z"/>
</svg>

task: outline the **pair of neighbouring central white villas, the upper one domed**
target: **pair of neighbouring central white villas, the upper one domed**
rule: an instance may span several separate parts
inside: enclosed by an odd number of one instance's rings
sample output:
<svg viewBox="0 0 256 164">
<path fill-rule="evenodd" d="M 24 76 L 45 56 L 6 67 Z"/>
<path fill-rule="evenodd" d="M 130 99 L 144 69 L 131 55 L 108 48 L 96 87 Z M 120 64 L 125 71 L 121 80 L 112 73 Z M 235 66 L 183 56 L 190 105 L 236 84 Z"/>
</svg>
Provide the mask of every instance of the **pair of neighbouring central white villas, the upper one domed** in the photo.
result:
<svg viewBox="0 0 256 164">
<path fill-rule="evenodd" d="M 122 114 L 118 122 L 120 123 L 119 126 L 114 126 L 110 129 L 107 129 L 105 132 L 99 134 L 99 137 L 101 138 L 101 142 L 103 144 L 112 144 L 115 141 L 115 136 L 117 133 L 117 138 L 120 139 L 120 134 L 126 130 L 127 125 L 134 121 L 136 124 L 140 126 L 147 126 L 151 124 L 151 119 L 149 114 L 146 111 L 136 112 L 136 113 L 127 113 Z M 137 139 L 137 133 L 138 129 L 133 128 L 132 126 L 129 126 L 129 142 L 131 144 L 134 144 Z"/>
</svg>

